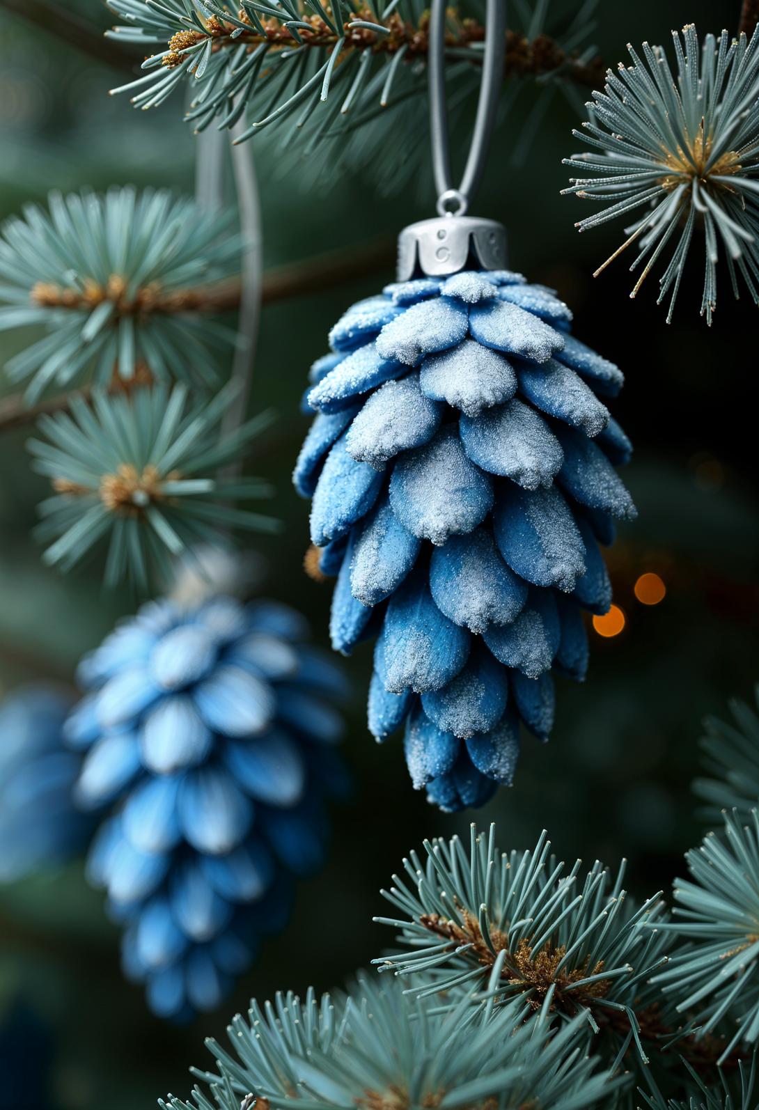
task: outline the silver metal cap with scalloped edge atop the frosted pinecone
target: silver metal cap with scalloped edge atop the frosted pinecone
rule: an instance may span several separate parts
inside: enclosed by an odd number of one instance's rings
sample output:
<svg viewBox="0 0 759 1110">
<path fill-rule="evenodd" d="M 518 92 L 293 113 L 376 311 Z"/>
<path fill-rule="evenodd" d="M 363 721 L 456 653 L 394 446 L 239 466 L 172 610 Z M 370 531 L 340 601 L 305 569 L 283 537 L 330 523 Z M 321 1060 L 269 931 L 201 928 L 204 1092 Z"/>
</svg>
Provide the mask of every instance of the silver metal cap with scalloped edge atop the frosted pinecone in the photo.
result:
<svg viewBox="0 0 759 1110">
<path fill-rule="evenodd" d="M 398 281 L 505 268 L 506 229 L 495 220 L 444 215 L 412 223 L 398 235 Z"/>
</svg>

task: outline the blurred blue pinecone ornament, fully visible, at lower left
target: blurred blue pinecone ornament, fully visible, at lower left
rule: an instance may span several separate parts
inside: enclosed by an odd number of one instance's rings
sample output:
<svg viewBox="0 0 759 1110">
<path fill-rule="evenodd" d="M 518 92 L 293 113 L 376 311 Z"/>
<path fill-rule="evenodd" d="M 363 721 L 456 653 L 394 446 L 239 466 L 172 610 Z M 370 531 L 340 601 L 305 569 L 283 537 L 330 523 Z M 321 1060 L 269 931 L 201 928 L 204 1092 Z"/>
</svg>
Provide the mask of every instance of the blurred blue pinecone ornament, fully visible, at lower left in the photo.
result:
<svg viewBox="0 0 759 1110">
<path fill-rule="evenodd" d="M 344 688 L 306 634 L 271 602 L 151 602 L 80 665 L 67 738 L 87 750 L 75 798 L 102 811 L 89 877 L 160 1016 L 215 1008 L 323 861 Z"/>
</svg>

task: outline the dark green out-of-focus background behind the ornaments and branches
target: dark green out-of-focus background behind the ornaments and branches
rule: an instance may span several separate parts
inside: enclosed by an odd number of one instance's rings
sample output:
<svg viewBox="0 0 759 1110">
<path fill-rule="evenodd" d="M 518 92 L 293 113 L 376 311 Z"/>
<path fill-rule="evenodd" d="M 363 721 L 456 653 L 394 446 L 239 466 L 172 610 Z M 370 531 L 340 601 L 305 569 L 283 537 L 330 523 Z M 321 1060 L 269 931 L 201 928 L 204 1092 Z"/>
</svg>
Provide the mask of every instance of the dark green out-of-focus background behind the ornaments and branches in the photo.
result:
<svg viewBox="0 0 759 1110">
<path fill-rule="evenodd" d="M 108 26 L 95 0 L 72 7 Z M 606 61 L 616 63 L 628 41 L 667 42 L 672 27 L 692 20 L 701 32 L 735 29 L 738 11 L 738 2 L 716 0 L 606 0 L 595 39 Z M 180 101 L 135 112 L 125 98 L 107 97 L 121 80 L 0 13 L 0 213 L 43 199 L 52 186 L 192 189 L 193 139 L 181 123 Z M 759 317 L 748 297 L 732 303 L 721 274 L 716 323 L 706 327 L 698 316 L 700 242 L 670 326 L 656 307 L 655 281 L 629 300 L 625 262 L 593 280 L 621 229 L 578 236 L 574 221 L 587 212 L 558 195 L 567 179 L 560 159 L 579 145 L 570 135 L 576 123 L 558 98 L 516 167 L 509 153 L 518 123 L 504 127 L 477 208 L 507 224 L 514 268 L 555 285 L 575 310 L 576 333 L 627 374 L 615 414 L 636 443 L 628 481 L 640 516 L 621 531 L 611 565 L 628 625 L 614 640 L 593 637 L 588 682 L 559 683 L 550 744 L 525 741 L 515 788 L 502 790 L 477 819 L 497 820 L 504 848 L 528 846 L 545 826 L 565 858 L 616 865 L 626 855 L 631 887 L 652 894 L 668 885 L 700 833 L 689 794 L 700 720 L 725 713 L 733 694 L 750 696 L 757 676 Z M 407 195 L 377 198 L 367 172 L 335 180 L 327 195 L 308 193 L 294 174 L 273 180 L 271 157 L 262 151 L 257 158 L 267 266 L 392 236 L 431 214 L 428 204 L 412 206 Z M 424 182 L 417 193 L 424 194 Z M 269 564 L 266 592 L 306 612 L 322 643 L 330 588 L 302 572 L 307 506 L 290 485 L 306 426 L 297 403 L 331 323 L 389 276 L 377 272 L 341 287 L 315 287 L 263 314 L 252 407 L 273 405 L 280 418 L 253 470 L 276 484 L 274 508 L 285 531 L 255 546 Z M 18 342 L 0 335 L 0 356 Z M 27 434 L 7 433 L 0 442 L 3 689 L 42 676 L 70 679 L 78 657 L 132 606 L 128 596 L 104 595 L 93 575 L 61 578 L 41 565 L 29 532 L 44 490 L 29 472 Z M 666 601 L 650 609 L 631 594 L 636 575 L 647 569 L 658 571 L 668 587 Z M 87 889 L 81 865 L 0 891 L 0 1107 L 43 1104 L 40 1077 L 49 1080 L 49 1104 L 61 1110 L 131 1110 L 154 1104 L 168 1090 L 183 1093 L 189 1064 L 204 1063 L 203 1036 L 223 1035 L 252 993 L 302 991 L 310 982 L 328 988 L 387 942 L 371 924 L 383 911 L 380 887 L 423 837 L 466 830 L 472 815 L 451 818 L 431 809 L 411 788 L 399 740 L 381 749 L 368 736 L 363 706 L 370 660 L 363 647 L 346 664 L 354 693 L 344 749 L 356 788 L 334 815 L 330 866 L 303 884 L 290 928 L 265 946 L 222 1012 L 190 1028 L 151 1017 L 140 991 L 121 978 L 118 932 L 105 921 L 100 895 Z"/>
</svg>

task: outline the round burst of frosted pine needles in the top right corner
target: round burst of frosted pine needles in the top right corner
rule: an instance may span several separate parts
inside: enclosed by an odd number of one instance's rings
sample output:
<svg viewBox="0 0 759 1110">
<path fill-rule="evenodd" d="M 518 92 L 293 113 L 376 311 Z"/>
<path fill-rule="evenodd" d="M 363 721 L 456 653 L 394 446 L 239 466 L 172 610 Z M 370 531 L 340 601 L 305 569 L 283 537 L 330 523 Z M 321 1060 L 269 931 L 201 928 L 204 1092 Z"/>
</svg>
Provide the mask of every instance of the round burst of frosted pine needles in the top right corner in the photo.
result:
<svg viewBox="0 0 759 1110">
<path fill-rule="evenodd" d="M 594 150 L 565 160 L 583 176 L 564 192 L 600 206 L 580 220 L 580 231 L 635 215 L 608 262 L 637 246 L 631 296 L 660 263 L 659 303 L 668 301 L 668 322 L 690 248 L 700 240 L 700 311 L 711 324 L 720 258 L 735 295 L 742 279 L 759 303 L 759 30 L 750 41 L 722 31 L 699 42 L 690 24 L 672 39 L 674 70 L 661 47 L 645 42 L 642 57 L 628 48 L 631 65 L 608 71 L 604 91 L 587 105 L 585 130 L 574 132 Z"/>
</svg>

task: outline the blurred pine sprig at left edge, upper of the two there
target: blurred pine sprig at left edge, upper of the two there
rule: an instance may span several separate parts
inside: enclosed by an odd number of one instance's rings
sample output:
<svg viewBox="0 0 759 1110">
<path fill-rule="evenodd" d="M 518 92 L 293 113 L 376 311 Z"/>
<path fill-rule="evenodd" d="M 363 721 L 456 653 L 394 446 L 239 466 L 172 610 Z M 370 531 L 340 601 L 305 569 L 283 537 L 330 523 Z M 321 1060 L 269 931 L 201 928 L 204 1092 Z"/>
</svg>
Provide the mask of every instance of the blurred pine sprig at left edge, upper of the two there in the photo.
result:
<svg viewBox="0 0 759 1110">
<path fill-rule="evenodd" d="M 214 386 L 234 343 L 219 293 L 240 272 L 233 210 L 113 188 L 27 205 L 0 229 L 0 330 L 42 329 L 6 371 L 50 389 L 155 377 Z"/>
</svg>

